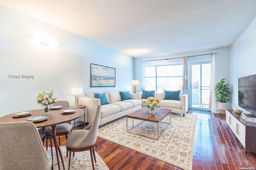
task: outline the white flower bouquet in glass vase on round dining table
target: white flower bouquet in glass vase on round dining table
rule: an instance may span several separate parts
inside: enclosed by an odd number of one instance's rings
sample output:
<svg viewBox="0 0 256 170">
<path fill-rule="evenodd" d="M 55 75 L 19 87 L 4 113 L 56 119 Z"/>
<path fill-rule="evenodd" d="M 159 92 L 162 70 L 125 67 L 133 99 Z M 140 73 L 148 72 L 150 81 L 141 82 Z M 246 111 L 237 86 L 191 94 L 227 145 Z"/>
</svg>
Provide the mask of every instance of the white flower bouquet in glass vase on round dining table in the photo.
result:
<svg viewBox="0 0 256 170">
<path fill-rule="evenodd" d="M 37 103 L 42 104 L 46 114 L 48 114 L 50 110 L 50 104 L 55 104 L 56 99 L 57 98 L 53 96 L 53 90 L 50 93 L 38 93 L 38 96 L 36 97 Z"/>
</svg>

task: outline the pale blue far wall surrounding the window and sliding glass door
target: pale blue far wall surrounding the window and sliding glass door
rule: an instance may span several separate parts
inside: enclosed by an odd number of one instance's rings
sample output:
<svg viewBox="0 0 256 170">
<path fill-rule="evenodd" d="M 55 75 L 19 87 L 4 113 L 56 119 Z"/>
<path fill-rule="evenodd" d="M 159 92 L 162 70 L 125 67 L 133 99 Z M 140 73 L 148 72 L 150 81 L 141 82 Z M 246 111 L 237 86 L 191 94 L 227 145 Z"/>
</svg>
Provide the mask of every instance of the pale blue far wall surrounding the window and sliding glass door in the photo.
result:
<svg viewBox="0 0 256 170">
<path fill-rule="evenodd" d="M 139 80 L 139 82 L 140 82 L 140 85 L 137 87 L 137 91 L 140 92 L 143 90 L 143 82 L 142 82 L 143 66 L 142 66 L 141 61 L 171 59 L 171 60 L 168 60 L 168 62 L 182 63 L 183 59 L 173 59 L 173 58 L 179 58 L 179 57 L 183 57 L 183 56 L 203 55 L 203 54 L 209 54 L 209 53 L 218 53 L 218 54 L 215 54 L 216 83 L 219 82 L 222 78 L 225 78 L 226 83 L 230 84 L 230 48 L 224 48 L 224 49 L 215 49 L 215 50 L 210 50 L 210 51 L 200 51 L 200 52 L 196 52 L 196 53 L 185 53 L 185 54 L 171 55 L 171 56 L 164 56 L 164 57 L 134 59 L 134 73 L 136 73 L 136 74 L 134 74 L 134 78 L 136 80 Z M 209 61 L 209 60 L 211 60 L 211 55 L 188 57 L 188 62 Z M 218 107 L 218 103 L 216 103 L 216 107 Z M 228 102 L 228 108 L 231 108 L 230 102 Z"/>
</svg>

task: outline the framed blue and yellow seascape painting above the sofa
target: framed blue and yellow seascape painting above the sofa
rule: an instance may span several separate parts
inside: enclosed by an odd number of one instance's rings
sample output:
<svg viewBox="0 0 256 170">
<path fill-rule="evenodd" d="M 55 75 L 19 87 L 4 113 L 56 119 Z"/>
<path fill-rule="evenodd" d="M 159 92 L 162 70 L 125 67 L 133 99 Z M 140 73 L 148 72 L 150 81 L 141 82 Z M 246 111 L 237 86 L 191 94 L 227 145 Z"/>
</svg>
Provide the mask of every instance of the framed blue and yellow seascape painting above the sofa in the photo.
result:
<svg viewBox="0 0 256 170">
<path fill-rule="evenodd" d="M 116 68 L 91 64 L 91 87 L 115 87 Z"/>
</svg>

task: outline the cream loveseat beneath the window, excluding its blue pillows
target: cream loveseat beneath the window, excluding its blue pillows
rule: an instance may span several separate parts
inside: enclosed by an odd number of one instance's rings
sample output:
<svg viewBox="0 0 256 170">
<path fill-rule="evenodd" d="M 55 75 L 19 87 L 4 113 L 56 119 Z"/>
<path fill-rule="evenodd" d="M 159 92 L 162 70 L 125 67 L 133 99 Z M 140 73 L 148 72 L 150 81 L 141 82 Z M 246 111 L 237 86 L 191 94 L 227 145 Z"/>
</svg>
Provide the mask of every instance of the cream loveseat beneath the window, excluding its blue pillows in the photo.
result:
<svg viewBox="0 0 256 170">
<path fill-rule="evenodd" d="M 168 92 L 168 91 L 167 91 Z M 134 93 L 132 94 L 134 99 L 144 101 L 146 98 L 142 98 L 142 93 Z M 185 113 L 188 111 L 188 95 L 187 94 L 181 94 L 179 95 L 179 100 L 168 100 L 164 99 L 165 92 L 154 92 L 154 96 L 151 96 L 154 98 L 157 98 L 160 100 L 160 103 L 158 104 L 158 107 L 160 108 L 167 108 L 167 109 L 172 109 L 172 113 L 180 113 L 185 116 Z"/>
</svg>

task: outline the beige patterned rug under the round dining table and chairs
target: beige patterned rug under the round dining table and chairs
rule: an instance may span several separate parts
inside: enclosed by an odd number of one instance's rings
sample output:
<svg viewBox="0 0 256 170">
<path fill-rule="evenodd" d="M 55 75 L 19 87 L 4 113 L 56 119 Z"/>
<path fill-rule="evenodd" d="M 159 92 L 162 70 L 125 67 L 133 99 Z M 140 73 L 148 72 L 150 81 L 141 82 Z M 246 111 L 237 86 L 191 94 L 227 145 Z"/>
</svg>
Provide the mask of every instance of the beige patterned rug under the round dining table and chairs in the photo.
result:
<svg viewBox="0 0 256 170">
<path fill-rule="evenodd" d="M 66 147 L 60 147 L 62 156 L 64 159 L 65 169 L 68 169 L 68 161 L 69 157 L 66 157 Z M 58 170 L 58 162 L 56 159 L 55 148 L 52 148 L 53 151 L 53 169 Z M 48 148 L 47 155 L 52 156 L 51 149 Z M 69 156 L 69 154 L 68 154 Z M 90 150 L 86 150 L 84 152 L 75 152 L 75 156 L 71 154 L 71 166 L 70 170 L 92 170 L 92 162 L 90 156 Z M 96 163 L 94 162 L 94 167 L 96 170 L 108 170 L 108 167 L 100 158 L 100 156 L 95 152 Z M 59 156 L 60 159 L 60 156 Z M 63 170 L 62 163 L 60 162 L 60 168 Z"/>
</svg>

